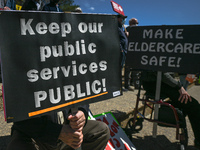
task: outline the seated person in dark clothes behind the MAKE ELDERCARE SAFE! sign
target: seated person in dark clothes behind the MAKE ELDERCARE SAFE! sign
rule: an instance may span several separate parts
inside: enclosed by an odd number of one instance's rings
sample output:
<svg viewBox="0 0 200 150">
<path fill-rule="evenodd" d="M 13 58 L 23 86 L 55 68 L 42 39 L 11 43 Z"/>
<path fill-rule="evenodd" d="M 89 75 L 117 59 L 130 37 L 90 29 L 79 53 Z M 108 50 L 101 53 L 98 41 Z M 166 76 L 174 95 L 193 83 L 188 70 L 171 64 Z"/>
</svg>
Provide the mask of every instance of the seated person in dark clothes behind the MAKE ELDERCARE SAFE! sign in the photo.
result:
<svg viewBox="0 0 200 150">
<path fill-rule="evenodd" d="M 155 95 L 157 73 L 143 71 L 141 78 L 144 90 Z M 160 96 L 169 97 L 175 108 L 179 108 L 183 114 L 188 115 L 195 136 L 194 144 L 200 148 L 200 104 L 198 101 L 191 97 L 181 86 L 181 83 L 169 73 L 162 74 Z"/>
</svg>

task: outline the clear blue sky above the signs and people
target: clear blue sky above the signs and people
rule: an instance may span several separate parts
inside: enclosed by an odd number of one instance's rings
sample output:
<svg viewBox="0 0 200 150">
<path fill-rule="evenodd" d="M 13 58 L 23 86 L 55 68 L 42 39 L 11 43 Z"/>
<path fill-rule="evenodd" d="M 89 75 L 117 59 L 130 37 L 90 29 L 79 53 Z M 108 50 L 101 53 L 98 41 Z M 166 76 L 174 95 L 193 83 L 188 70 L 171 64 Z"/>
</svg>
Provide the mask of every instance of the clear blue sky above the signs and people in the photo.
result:
<svg viewBox="0 0 200 150">
<path fill-rule="evenodd" d="M 200 0 L 113 0 L 125 15 L 146 25 L 200 25 Z M 110 0 L 74 0 L 84 13 L 116 14 Z"/>
</svg>

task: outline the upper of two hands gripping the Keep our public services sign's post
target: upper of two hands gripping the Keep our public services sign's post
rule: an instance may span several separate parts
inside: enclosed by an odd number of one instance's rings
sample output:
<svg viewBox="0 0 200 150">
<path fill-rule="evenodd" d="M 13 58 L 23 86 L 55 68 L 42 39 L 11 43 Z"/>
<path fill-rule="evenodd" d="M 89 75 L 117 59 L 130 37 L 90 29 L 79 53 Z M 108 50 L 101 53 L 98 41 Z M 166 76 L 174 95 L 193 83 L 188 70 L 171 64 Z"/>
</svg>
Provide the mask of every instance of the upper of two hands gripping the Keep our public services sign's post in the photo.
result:
<svg viewBox="0 0 200 150">
<path fill-rule="evenodd" d="M 86 120 L 82 111 L 79 110 L 76 114 L 70 114 L 67 119 L 70 121 L 69 125 L 72 129 L 82 131 Z"/>
</svg>

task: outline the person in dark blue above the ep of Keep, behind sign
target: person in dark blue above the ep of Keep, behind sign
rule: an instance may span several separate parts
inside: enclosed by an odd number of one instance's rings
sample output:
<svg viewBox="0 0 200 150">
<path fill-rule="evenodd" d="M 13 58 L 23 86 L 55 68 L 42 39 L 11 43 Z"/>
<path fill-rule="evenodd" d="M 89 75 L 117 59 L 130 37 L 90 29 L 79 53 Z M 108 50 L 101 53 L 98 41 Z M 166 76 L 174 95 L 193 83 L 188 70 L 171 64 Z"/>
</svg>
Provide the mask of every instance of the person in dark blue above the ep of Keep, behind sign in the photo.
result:
<svg viewBox="0 0 200 150">
<path fill-rule="evenodd" d="M 57 11 L 62 12 L 58 5 L 59 0 L 50 0 L 49 4 L 46 4 L 43 8 L 43 11 Z"/>
</svg>

